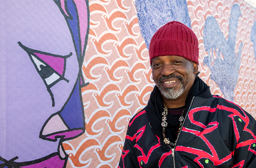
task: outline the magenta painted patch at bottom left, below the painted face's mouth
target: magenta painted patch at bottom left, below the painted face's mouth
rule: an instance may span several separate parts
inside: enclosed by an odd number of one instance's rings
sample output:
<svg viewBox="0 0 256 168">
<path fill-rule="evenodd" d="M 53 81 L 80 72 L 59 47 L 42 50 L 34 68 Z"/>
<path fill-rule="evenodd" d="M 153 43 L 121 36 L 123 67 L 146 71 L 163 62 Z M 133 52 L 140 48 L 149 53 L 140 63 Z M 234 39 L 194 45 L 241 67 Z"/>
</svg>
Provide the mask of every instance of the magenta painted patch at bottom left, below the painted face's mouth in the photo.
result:
<svg viewBox="0 0 256 168">
<path fill-rule="evenodd" d="M 59 156 L 53 156 L 45 161 L 36 163 L 36 164 L 31 164 L 31 165 L 25 165 L 21 166 L 22 168 L 35 168 L 35 167 L 54 167 L 54 168 L 63 168 L 65 164 L 65 160 L 62 160 L 59 158 Z"/>
</svg>

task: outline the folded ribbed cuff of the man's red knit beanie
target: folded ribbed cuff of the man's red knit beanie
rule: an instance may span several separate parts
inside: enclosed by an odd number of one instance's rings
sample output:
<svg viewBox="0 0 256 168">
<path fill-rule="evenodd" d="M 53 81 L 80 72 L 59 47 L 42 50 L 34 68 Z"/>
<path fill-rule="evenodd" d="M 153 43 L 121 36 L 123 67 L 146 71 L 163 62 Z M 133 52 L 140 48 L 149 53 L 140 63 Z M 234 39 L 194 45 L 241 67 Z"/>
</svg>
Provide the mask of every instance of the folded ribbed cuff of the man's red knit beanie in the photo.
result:
<svg viewBox="0 0 256 168">
<path fill-rule="evenodd" d="M 183 57 L 197 64 L 199 57 L 199 47 L 185 41 L 177 39 L 161 39 L 150 44 L 150 64 L 152 59 L 164 55 L 176 55 Z"/>
</svg>

